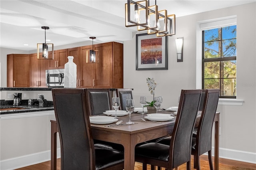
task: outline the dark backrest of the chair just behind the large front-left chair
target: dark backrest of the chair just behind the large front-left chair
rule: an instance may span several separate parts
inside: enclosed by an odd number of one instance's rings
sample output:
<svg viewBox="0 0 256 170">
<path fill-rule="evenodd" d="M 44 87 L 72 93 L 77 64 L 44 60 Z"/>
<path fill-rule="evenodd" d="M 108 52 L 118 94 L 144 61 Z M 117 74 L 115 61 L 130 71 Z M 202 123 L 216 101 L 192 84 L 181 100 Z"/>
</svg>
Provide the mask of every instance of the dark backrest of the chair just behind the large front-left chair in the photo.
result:
<svg viewBox="0 0 256 170">
<path fill-rule="evenodd" d="M 112 110 L 110 89 L 86 89 L 86 91 L 91 115 L 102 115 L 103 112 Z"/>
</svg>

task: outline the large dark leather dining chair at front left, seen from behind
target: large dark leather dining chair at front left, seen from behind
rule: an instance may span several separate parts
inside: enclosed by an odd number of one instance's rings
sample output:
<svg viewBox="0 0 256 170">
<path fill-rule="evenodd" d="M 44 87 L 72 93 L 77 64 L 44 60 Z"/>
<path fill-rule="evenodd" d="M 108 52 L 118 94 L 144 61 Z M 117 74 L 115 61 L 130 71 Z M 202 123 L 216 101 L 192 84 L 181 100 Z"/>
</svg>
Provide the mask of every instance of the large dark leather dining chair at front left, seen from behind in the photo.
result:
<svg viewBox="0 0 256 170">
<path fill-rule="evenodd" d="M 122 170 L 124 154 L 94 147 L 85 89 L 52 89 L 61 170 Z"/>
</svg>

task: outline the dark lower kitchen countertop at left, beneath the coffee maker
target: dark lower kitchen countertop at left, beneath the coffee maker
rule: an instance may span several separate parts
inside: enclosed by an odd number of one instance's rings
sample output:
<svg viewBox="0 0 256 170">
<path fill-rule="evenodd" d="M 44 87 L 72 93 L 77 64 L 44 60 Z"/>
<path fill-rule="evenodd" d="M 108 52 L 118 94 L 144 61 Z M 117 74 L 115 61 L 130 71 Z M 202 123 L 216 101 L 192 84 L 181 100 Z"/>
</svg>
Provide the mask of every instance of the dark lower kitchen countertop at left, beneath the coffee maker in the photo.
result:
<svg viewBox="0 0 256 170">
<path fill-rule="evenodd" d="M 12 109 L 14 108 L 14 109 Z M 16 109 L 18 108 L 18 109 Z M 33 106 L 29 107 L 28 105 L 19 105 L 19 106 L 12 106 L 12 105 L 5 105 L 1 106 L 1 109 L 8 109 L 8 110 L 1 110 L 0 114 L 11 114 L 11 113 L 26 113 L 26 112 L 38 112 L 38 111 L 50 111 L 54 110 L 53 106 L 50 107 L 38 107 Z"/>
</svg>

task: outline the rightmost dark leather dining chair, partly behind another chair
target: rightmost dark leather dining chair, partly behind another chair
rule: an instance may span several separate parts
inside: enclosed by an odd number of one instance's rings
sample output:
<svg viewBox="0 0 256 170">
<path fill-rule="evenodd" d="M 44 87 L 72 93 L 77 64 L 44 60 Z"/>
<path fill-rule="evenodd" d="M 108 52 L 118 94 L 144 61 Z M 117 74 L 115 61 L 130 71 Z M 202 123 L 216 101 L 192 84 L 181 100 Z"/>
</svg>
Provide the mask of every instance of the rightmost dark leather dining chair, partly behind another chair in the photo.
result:
<svg viewBox="0 0 256 170">
<path fill-rule="evenodd" d="M 198 124 L 196 137 L 192 138 L 192 154 L 194 155 L 194 168 L 200 170 L 200 155 L 208 152 L 210 170 L 212 164 L 212 125 L 218 106 L 219 89 L 206 89 L 202 114 Z"/>
</svg>

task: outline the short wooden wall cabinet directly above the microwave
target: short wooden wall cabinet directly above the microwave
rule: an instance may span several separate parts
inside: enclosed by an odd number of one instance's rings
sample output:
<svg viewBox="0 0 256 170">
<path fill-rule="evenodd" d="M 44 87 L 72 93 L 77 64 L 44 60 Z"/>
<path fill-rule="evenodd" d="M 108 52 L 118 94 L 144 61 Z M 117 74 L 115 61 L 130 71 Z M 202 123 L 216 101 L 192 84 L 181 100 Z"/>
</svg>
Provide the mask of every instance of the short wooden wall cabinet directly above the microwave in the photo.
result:
<svg viewBox="0 0 256 170">
<path fill-rule="evenodd" d="M 52 51 L 49 52 L 49 55 L 52 55 Z M 55 50 L 53 59 L 48 60 L 48 69 L 64 69 L 67 62 L 68 49 Z"/>
</svg>

